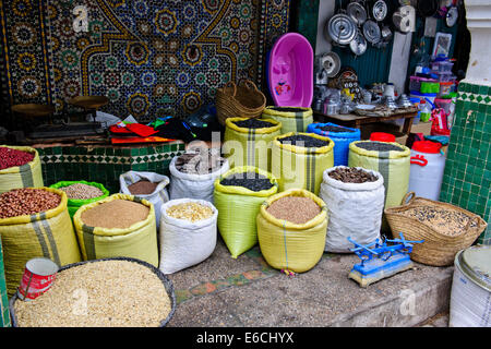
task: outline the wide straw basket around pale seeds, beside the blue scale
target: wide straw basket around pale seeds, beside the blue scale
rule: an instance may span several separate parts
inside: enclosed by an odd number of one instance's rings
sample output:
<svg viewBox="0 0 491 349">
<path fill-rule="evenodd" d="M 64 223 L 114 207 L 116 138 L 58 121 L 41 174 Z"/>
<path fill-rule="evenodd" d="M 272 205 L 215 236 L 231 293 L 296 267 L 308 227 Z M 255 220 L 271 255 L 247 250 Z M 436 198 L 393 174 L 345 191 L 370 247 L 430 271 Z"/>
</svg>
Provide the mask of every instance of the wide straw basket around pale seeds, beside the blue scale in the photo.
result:
<svg viewBox="0 0 491 349">
<path fill-rule="evenodd" d="M 409 196 L 411 197 L 409 198 Z M 408 198 L 409 201 L 407 202 Z M 435 208 L 459 212 L 469 216 L 470 219 L 462 233 L 455 236 L 444 234 L 416 218 L 402 214 L 409 208 L 420 206 L 433 206 Z M 488 226 L 478 215 L 451 204 L 417 197 L 415 192 L 406 194 L 402 206 L 385 208 L 384 213 L 394 239 L 398 239 L 402 231 L 407 240 L 424 240 L 423 243 L 415 244 L 411 260 L 432 266 L 452 265 L 457 252 L 469 248 Z M 476 222 L 474 227 L 471 227 L 472 221 Z"/>
</svg>

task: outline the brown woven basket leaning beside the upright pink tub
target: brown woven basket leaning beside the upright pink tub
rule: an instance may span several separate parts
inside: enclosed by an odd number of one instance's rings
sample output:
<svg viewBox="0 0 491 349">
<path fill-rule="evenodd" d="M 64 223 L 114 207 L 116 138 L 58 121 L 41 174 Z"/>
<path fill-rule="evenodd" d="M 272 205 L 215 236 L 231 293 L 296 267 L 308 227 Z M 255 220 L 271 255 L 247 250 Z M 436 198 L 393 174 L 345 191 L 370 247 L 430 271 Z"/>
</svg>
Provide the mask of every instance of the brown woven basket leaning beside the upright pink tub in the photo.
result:
<svg viewBox="0 0 491 349">
<path fill-rule="evenodd" d="M 266 96 L 250 80 L 241 86 L 230 81 L 216 92 L 216 113 L 221 125 L 227 118 L 261 117 L 265 107 Z"/>
</svg>

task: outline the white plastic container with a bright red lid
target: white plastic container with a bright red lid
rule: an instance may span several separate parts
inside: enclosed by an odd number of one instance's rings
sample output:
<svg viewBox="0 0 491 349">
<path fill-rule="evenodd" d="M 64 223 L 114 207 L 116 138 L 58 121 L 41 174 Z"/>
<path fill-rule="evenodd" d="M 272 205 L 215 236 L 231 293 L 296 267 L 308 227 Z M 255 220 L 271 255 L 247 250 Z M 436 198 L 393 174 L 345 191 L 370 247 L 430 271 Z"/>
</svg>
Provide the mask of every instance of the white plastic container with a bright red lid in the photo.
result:
<svg viewBox="0 0 491 349">
<path fill-rule="evenodd" d="M 439 201 L 445 155 L 442 145 L 431 141 L 416 141 L 411 148 L 409 192 L 416 196 Z"/>
</svg>

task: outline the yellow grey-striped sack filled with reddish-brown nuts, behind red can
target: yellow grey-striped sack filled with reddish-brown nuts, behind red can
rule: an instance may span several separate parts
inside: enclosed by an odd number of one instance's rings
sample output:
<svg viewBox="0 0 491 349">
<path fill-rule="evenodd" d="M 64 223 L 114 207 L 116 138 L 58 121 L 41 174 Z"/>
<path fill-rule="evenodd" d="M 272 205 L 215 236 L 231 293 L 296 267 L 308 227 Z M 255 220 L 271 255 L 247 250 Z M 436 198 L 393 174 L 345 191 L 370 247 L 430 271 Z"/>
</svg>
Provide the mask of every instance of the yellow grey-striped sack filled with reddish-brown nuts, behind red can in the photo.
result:
<svg viewBox="0 0 491 349">
<path fill-rule="evenodd" d="M 22 188 L 0 194 L 0 236 L 9 297 L 28 260 L 47 257 L 58 266 L 81 261 L 67 194 L 52 188 Z"/>
</svg>

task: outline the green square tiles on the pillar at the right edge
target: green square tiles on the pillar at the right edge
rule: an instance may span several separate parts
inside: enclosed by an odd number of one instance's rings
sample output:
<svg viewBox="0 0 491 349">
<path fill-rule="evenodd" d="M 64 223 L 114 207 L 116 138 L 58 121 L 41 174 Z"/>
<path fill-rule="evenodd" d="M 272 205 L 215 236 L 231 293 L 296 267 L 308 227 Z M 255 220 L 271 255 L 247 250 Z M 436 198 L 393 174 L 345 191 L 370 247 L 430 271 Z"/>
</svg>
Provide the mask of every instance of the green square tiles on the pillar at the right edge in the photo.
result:
<svg viewBox="0 0 491 349">
<path fill-rule="evenodd" d="M 491 244 L 491 87 L 460 83 L 440 200 L 481 216 Z"/>
</svg>

